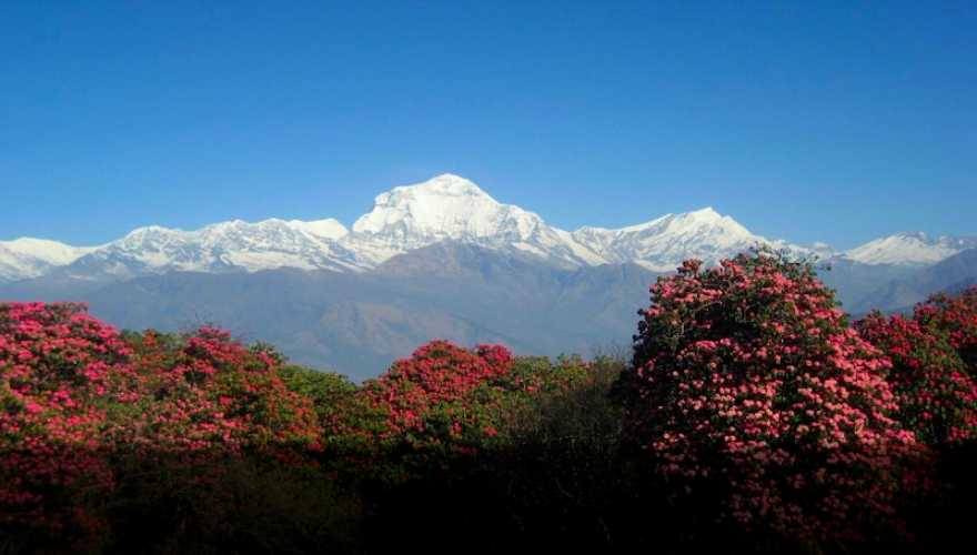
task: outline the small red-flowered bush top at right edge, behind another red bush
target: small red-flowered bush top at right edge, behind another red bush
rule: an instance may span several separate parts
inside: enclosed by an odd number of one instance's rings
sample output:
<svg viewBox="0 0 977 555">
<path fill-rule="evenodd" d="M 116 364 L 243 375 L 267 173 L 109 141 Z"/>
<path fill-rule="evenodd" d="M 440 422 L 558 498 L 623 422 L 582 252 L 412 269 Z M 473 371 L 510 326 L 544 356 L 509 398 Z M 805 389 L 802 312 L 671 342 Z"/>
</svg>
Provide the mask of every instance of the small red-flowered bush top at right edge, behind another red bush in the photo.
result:
<svg viewBox="0 0 977 555">
<path fill-rule="evenodd" d="M 977 377 L 977 285 L 959 295 L 937 293 L 916 306 L 915 319 L 923 325 L 941 330 Z"/>
</svg>

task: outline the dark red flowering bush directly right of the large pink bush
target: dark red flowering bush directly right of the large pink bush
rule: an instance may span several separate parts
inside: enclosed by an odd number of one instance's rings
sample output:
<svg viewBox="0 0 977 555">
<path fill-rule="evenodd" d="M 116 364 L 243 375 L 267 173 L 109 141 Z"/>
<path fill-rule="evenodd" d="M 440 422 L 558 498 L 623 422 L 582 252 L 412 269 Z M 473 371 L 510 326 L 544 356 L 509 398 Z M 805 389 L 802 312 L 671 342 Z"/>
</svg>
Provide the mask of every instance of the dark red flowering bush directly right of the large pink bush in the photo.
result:
<svg viewBox="0 0 977 555">
<path fill-rule="evenodd" d="M 857 329 L 892 360 L 888 382 L 898 418 L 920 441 L 939 446 L 977 437 L 977 385 L 940 330 L 879 313 Z"/>
</svg>

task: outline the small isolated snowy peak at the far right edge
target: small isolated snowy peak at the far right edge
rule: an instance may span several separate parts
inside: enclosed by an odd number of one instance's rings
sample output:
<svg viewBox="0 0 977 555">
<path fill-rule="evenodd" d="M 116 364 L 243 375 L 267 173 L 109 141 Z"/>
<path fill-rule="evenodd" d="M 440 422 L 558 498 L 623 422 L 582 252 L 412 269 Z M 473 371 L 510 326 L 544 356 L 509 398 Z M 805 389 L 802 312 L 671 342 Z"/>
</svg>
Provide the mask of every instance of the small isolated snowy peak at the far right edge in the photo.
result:
<svg viewBox="0 0 977 555">
<path fill-rule="evenodd" d="M 926 233 L 896 233 L 846 251 L 843 256 L 863 264 L 930 265 L 977 249 L 977 238 L 930 238 Z"/>
</svg>

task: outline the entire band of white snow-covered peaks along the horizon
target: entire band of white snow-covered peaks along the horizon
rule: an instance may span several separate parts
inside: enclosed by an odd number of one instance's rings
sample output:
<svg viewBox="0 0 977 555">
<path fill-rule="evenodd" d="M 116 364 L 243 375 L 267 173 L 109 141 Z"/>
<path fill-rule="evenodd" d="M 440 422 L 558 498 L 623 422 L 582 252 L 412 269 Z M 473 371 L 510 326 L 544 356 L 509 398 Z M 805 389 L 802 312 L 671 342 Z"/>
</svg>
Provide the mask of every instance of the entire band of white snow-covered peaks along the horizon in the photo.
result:
<svg viewBox="0 0 977 555">
<path fill-rule="evenodd" d="M 173 271 L 279 268 L 364 272 L 445 241 L 528 254 L 561 268 L 636 263 L 654 272 L 674 270 L 689 258 L 715 263 L 762 244 L 820 259 L 837 255 L 825 244 L 802 248 L 754 234 L 712 208 L 621 229 L 565 231 L 534 212 L 496 201 L 472 181 L 444 174 L 380 194 L 352 230 L 332 219 L 235 220 L 195 231 L 140 228 L 99 248 L 32 239 L 0 242 L 0 281 L 48 274 L 119 281 Z M 975 246 L 977 239 L 900 233 L 837 256 L 864 264 L 925 265 Z"/>
</svg>

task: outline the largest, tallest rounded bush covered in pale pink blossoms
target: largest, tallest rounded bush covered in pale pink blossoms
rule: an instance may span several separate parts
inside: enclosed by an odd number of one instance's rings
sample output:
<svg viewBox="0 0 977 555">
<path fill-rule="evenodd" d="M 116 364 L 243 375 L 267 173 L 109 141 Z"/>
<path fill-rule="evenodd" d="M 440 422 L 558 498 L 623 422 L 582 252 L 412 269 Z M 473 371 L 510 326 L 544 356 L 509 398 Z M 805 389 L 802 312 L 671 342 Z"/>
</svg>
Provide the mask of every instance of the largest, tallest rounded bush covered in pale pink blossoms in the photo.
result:
<svg viewBox="0 0 977 555">
<path fill-rule="evenodd" d="M 894 416 L 889 361 L 809 264 L 759 253 L 659 278 L 635 337 L 632 433 L 677 496 L 800 542 L 888 527 L 921 447 Z"/>
</svg>

